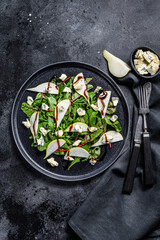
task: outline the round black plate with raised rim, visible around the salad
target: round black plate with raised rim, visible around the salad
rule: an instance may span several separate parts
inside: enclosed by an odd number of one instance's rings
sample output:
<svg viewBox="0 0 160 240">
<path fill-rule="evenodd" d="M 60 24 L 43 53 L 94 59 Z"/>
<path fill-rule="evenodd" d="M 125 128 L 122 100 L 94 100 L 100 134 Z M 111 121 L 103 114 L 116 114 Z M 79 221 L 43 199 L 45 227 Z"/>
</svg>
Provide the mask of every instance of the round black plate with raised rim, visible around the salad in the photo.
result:
<svg viewBox="0 0 160 240">
<path fill-rule="evenodd" d="M 102 86 L 104 90 L 111 90 L 112 96 L 119 97 L 120 101 L 116 114 L 118 115 L 119 121 L 122 125 L 122 135 L 124 137 L 124 141 L 112 144 L 111 149 L 107 146 L 107 151 L 103 155 L 103 160 L 97 162 L 95 166 L 91 166 L 88 162 L 82 162 L 75 164 L 68 171 L 63 167 L 65 162 L 63 160 L 63 156 L 56 156 L 59 166 L 53 168 L 46 160 L 43 159 L 45 152 L 39 152 L 36 148 L 31 147 L 32 140 L 29 139 L 31 133 L 22 125 L 22 121 L 26 119 L 26 115 L 21 111 L 21 104 L 22 102 L 26 102 L 28 95 L 32 97 L 35 97 L 36 95 L 34 92 L 26 91 L 27 88 L 50 81 L 53 76 L 60 76 L 62 73 L 67 74 L 67 76 L 75 76 L 79 72 L 83 72 L 85 77 L 93 77 L 92 84 L 95 87 L 97 85 Z M 29 162 L 38 171 L 49 177 L 64 181 L 77 181 L 91 178 L 101 173 L 118 159 L 121 151 L 123 151 L 125 140 L 128 135 L 129 111 L 122 91 L 111 79 L 111 77 L 106 75 L 104 72 L 91 65 L 80 62 L 60 62 L 40 69 L 29 77 L 22 85 L 13 104 L 11 123 L 16 145 L 27 162 Z"/>
</svg>

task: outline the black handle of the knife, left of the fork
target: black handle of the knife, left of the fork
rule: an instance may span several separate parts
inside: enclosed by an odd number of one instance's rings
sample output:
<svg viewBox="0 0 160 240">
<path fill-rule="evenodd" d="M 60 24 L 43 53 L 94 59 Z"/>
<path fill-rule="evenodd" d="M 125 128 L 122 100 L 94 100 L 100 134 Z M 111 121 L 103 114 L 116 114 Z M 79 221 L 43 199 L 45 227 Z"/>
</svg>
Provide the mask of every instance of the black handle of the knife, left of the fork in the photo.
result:
<svg viewBox="0 0 160 240">
<path fill-rule="evenodd" d="M 133 147 L 132 156 L 128 165 L 127 174 L 124 180 L 124 185 L 122 190 L 123 193 L 130 194 L 132 192 L 136 167 L 138 163 L 139 150 L 140 150 L 140 144 L 135 143 Z"/>
</svg>

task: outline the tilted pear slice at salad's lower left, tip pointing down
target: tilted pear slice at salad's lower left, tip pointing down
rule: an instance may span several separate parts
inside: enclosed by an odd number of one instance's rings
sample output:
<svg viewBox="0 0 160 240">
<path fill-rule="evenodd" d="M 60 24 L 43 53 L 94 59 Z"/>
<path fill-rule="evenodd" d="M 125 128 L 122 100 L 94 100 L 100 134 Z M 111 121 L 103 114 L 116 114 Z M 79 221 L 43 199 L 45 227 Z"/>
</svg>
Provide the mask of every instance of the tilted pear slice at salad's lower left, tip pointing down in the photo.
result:
<svg viewBox="0 0 160 240">
<path fill-rule="evenodd" d="M 46 149 L 46 156 L 44 157 L 44 159 L 49 157 L 53 152 L 62 147 L 65 143 L 66 141 L 63 139 L 56 139 L 50 142 Z"/>
</svg>

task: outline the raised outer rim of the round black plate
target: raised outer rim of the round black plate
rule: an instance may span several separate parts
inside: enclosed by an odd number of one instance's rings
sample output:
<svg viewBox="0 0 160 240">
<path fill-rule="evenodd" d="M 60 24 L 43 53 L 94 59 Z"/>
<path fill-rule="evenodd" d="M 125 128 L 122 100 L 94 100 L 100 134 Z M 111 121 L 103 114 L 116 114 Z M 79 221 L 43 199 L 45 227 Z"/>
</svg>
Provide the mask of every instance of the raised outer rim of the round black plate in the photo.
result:
<svg viewBox="0 0 160 240">
<path fill-rule="evenodd" d="M 19 138 L 19 134 L 17 131 L 17 126 L 15 128 L 14 125 L 14 109 L 16 106 L 16 102 L 17 99 L 19 97 L 19 94 L 21 93 L 22 89 L 24 88 L 24 86 L 26 85 L 27 82 L 30 81 L 30 79 L 32 77 L 34 77 L 34 75 L 36 75 L 39 72 L 43 72 L 45 69 L 50 68 L 50 67 L 56 67 L 58 65 L 67 65 L 67 64 L 76 64 L 77 66 L 80 65 L 80 67 L 85 67 L 88 68 L 90 70 L 94 70 L 95 72 L 98 72 L 101 75 L 104 75 L 108 80 L 109 83 L 116 88 L 116 90 L 118 90 L 121 94 L 121 96 L 123 97 L 123 101 L 126 105 L 126 110 L 127 110 L 127 120 L 128 120 L 128 130 L 127 130 L 127 134 L 126 134 L 126 139 L 124 141 L 123 147 L 121 149 L 121 151 L 119 152 L 119 154 L 117 155 L 117 157 L 114 159 L 113 162 L 111 162 L 109 165 L 105 166 L 105 167 L 101 167 L 99 169 L 96 169 L 96 171 L 93 171 L 92 173 L 86 173 L 85 175 L 78 175 L 78 176 L 66 176 L 66 175 L 59 175 L 57 173 L 51 173 L 50 171 L 48 171 L 47 169 L 41 167 L 40 165 L 38 165 L 35 161 L 32 160 L 32 158 L 30 158 L 30 156 L 28 155 L 28 153 L 25 151 L 25 148 L 23 147 L 23 144 L 21 144 L 20 138 Z M 45 176 L 51 177 L 53 179 L 56 180 L 60 180 L 60 181 L 66 181 L 66 182 L 74 182 L 74 181 L 82 181 L 82 180 L 86 180 L 86 179 L 90 179 L 93 178 L 97 175 L 99 175 L 100 173 L 104 172 L 105 170 L 107 170 L 109 167 L 111 167 L 119 158 L 119 156 L 122 154 L 125 146 L 126 146 L 126 142 L 128 139 L 128 135 L 129 135 L 129 130 L 130 130 L 130 111 L 129 111 L 129 107 L 128 107 L 128 103 L 126 100 L 126 97 L 124 95 L 124 93 L 122 92 L 122 90 L 120 89 L 120 87 L 118 86 L 118 84 L 111 78 L 111 76 L 109 76 L 107 73 L 105 73 L 103 70 L 99 69 L 98 67 L 93 66 L 92 64 L 88 64 L 88 63 L 84 63 L 84 62 L 79 62 L 79 61 L 61 61 L 61 62 L 56 62 L 56 63 L 51 63 L 48 65 L 45 65 L 44 67 L 38 69 L 37 71 L 35 71 L 34 73 L 32 73 L 25 81 L 24 83 L 21 85 L 20 89 L 18 90 L 16 97 L 14 99 L 13 105 L 12 105 L 12 111 L 11 111 L 11 129 L 12 129 L 12 135 L 14 138 L 14 141 L 16 143 L 16 146 L 20 152 L 20 154 L 22 155 L 22 157 L 36 170 L 38 170 L 40 173 L 44 174 Z"/>
</svg>

